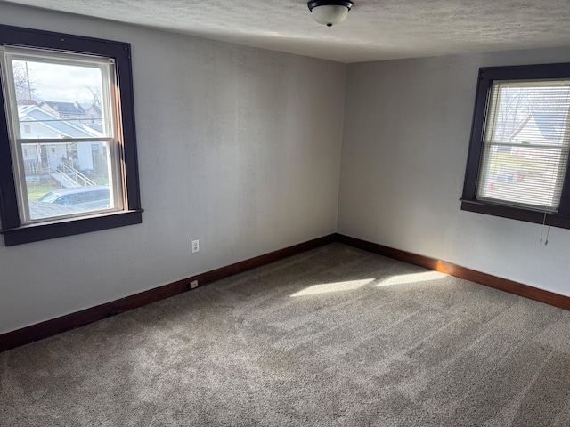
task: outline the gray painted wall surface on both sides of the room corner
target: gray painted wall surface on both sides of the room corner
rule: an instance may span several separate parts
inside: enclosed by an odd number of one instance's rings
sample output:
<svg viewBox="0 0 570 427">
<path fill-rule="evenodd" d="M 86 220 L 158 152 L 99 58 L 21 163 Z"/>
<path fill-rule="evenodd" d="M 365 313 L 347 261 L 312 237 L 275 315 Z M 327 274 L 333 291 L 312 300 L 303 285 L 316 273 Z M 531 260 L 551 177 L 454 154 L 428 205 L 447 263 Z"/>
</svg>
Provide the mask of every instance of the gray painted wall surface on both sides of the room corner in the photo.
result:
<svg viewBox="0 0 570 427">
<path fill-rule="evenodd" d="M 141 225 L 0 246 L 0 334 L 335 230 L 570 295 L 570 230 L 543 246 L 542 226 L 459 202 L 477 69 L 568 49 L 354 64 L 345 103 L 334 62 L 11 4 L 0 23 L 133 44 L 146 209 Z"/>
</svg>

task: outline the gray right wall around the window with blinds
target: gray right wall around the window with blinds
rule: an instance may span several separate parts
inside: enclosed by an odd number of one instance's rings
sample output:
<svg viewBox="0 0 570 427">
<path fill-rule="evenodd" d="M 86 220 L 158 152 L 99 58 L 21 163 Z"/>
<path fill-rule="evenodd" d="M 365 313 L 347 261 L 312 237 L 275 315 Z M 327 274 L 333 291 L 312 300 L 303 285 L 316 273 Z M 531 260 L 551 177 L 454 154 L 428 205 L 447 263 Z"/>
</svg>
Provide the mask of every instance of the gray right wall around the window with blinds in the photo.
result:
<svg viewBox="0 0 570 427">
<path fill-rule="evenodd" d="M 479 67 L 570 49 L 348 67 L 338 232 L 570 295 L 570 230 L 460 210 Z"/>
</svg>

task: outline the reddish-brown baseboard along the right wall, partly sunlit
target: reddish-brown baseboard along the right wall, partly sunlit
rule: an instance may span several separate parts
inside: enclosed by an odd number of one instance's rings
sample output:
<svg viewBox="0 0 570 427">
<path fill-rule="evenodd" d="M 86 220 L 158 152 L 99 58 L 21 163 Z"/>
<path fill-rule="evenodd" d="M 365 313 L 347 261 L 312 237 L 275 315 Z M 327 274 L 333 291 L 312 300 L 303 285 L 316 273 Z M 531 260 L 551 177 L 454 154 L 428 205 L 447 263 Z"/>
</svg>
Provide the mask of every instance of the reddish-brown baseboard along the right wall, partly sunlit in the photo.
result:
<svg viewBox="0 0 570 427">
<path fill-rule="evenodd" d="M 451 262 L 443 262 L 436 260 L 435 258 L 411 254 L 409 252 L 371 243 L 359 238 L 350 238 L 342 234 L 337 234 L 336 240 L 340 243 L 354 246 L 374 254 L 380 254 L 389 258 L 394 258 L 395 260 L 419 265 L 420 267 L 424 267 L 429 270 L 441 271 L 442 273 L 450 274 L 456 278 L 464 278 L 471 282 L 476 282 L 481 285 L 509 292 L 510 294 L 524 296 L 525 298 L 529 298 L 534 301 L 544 302 L 561 309 L 570 310 L 570 297 L 565 295 L 554 294 L 552 292 L 544 291 L 533 286 L 523 285 L 522 283 L 514 282 L 506 278 L 498 278 L 480 271 L 466 269 L 465 267 L 460 267 L 459 265 L 452 264 Z"/>
</svg>

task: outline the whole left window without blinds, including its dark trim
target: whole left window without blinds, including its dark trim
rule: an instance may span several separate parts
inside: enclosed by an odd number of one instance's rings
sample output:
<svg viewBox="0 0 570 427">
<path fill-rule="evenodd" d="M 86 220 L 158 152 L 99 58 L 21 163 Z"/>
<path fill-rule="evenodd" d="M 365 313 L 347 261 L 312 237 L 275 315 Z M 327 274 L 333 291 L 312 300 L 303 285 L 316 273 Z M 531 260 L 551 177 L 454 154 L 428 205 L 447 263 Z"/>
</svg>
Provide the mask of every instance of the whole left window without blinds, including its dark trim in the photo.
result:
<svg viewBox="0 0 570 427">
<path fill-rule="evenodd" d="M 142 222 L 130 45 L 0 26 L 6 246 Z"/>
</svg>

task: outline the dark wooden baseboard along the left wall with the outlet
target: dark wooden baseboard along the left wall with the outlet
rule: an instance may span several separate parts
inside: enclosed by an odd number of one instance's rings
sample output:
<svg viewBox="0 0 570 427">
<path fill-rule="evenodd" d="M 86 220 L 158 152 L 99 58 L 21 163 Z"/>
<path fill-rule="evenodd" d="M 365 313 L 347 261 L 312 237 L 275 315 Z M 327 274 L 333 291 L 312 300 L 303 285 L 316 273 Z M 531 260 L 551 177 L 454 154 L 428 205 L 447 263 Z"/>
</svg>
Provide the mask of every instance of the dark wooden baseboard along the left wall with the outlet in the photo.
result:
<svg viewBox="0 0 570 427">
<path fill-rule="evenodd" d="M 221 269 L 208 271 L 192 276 L 191 278 L 184 278 L 165 286 L 156 287 L 149 291 L 130 295 L 116 301 L 107 302 L 90 309 L 77 311 L 75 313 L 68 314 L 67 316 L 62 316 L 61 318 L 53 318 L 51 320 L 38 323 L 37 325 L 24 327 L 7 334 L 1 334 L 0 352 L 19 347 L 20 345 L 25 345 L 30 342 L 36 342 L 49 336 L 61 334 L 71 329 L 75 329 L 76 327 L 85 326 L 90 323 L 94 323 L 97 320 L 109 318 L 110 316 L 115 316 L 116 314 L 123 313 L 128 310 L 134 310 L 142 307 L 143 305 L 164 300 L 165 298 L 176 294 L 182 294 L 183 292 L 190 290 L 190 282 L 192 280 L 198 280 L 199 286 L 204 286 L 221 278 L 227 278 L 234 274 L 238 274 L 241 271 L 254 269 L 295 254 L 301 254 L 319 246 L 328 245 L 335 240 L 335 234 L 322 238 L 315 238 L 314 240 L 309 240 L 308 242 L 300 243 L 295 246 L 289 246 L 270 254 L 256 256 L 255 258 L 236 262 L 235 264 L 222 267 Z"/>
</svg>

